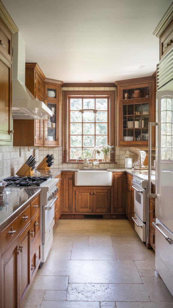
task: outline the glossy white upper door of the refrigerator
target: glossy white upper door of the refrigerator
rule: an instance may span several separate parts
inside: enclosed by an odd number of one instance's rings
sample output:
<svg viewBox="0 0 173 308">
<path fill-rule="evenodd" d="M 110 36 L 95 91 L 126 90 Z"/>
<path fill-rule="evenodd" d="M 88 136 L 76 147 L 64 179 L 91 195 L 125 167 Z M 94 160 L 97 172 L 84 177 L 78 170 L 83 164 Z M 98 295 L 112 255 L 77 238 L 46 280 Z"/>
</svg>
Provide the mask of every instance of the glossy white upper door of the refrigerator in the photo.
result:
<svg viewBox="0 0 173 308">
<path fill-rule="evenodd" d="M 173 231 L 173 91 L 157 91 L 156 217 Z"/>
</svg>

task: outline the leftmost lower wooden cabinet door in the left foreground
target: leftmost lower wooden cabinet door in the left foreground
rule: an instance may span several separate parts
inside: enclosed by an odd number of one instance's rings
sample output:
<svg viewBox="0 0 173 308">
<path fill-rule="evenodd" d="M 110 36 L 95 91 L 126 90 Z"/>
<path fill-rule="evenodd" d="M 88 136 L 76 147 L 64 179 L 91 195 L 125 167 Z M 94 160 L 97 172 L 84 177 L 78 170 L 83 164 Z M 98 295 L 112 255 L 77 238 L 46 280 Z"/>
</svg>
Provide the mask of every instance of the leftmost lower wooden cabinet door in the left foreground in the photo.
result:
<svg viewBox="0 0 173 308">
<path fill-rule="evenodd" d="M 18 307 L 18 239 L 1 259 L 2 308 Z"/>
</svg>

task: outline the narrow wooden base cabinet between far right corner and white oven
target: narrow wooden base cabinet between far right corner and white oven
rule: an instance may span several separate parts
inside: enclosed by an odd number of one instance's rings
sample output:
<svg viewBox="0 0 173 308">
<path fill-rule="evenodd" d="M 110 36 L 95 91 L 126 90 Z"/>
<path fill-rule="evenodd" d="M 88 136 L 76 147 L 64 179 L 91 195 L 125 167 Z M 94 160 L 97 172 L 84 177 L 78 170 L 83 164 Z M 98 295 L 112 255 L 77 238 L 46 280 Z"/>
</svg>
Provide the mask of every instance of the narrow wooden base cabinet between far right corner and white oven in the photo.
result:
<svg viewBox="0 0 173 308">
<path fill-rule="evenodd" d="M 126 191 L 126 215 L 134 226 L 132 217 L 134 217 L 134 189 L 132 187 L 133 176 L 127 173 L 127 191 Z"/>
</svg>

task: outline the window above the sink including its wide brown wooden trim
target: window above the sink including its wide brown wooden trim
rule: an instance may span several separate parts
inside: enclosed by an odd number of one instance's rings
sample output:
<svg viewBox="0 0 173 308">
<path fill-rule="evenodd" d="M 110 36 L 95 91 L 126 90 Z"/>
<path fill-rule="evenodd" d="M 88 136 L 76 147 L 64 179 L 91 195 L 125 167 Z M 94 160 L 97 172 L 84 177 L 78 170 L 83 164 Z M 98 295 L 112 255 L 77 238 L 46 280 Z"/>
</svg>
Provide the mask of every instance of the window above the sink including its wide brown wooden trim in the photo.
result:
<svg viewBox="0 0 173 308">
<path fill-rule="evenodd" d="M 115 91 L 63 91 L 63 162 L 115 146 Z M 95 158 L 103 158 L 103 153 Z M 115 161 L 115 153 L 111 153 Z"/>
</svg>

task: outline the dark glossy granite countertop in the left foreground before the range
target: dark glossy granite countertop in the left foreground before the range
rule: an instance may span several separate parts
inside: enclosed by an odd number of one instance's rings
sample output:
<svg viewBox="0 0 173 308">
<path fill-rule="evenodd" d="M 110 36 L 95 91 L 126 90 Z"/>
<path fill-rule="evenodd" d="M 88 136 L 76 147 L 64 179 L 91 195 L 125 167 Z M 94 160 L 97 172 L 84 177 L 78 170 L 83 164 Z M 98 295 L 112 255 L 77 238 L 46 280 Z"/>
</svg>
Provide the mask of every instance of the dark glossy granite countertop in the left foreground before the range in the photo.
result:
<svg viewBox="0 0 173 308">
<path fill-rule="evenodd" d="M 0 196 L 0 228 L 40 191 L 41 189 L 38 187 L 5 188 L 4 198 Z"/>
</svg>

